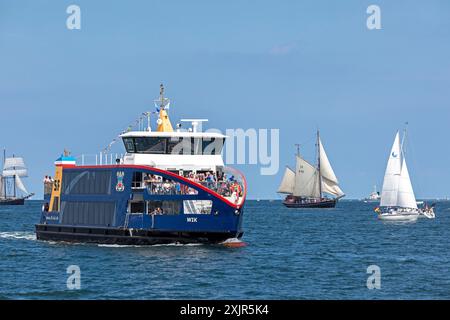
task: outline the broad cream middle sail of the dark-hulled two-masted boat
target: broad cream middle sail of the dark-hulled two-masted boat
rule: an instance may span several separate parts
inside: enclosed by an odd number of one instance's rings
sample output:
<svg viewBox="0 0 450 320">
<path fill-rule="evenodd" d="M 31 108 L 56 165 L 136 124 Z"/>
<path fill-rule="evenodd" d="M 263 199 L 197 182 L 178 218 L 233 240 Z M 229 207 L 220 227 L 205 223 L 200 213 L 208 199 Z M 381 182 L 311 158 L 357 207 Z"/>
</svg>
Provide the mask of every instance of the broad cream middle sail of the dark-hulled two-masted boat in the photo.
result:
<svg viewBox="0 0 450 320">
<path fill-rule="evenodd" d="M 320 198 L 319 174 L 316 167 L 297 156 L 294 196 Z"/>
</svg>

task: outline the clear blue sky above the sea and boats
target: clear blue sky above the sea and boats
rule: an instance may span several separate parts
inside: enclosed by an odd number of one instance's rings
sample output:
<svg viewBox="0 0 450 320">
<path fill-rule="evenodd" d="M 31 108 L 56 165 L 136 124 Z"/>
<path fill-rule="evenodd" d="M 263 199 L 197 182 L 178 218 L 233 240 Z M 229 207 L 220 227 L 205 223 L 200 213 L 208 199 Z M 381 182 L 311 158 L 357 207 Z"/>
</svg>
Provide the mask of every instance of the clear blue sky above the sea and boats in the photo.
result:
<svg viewBox="0 0 450 320">
<path fill-rule="evenodd" d="M 66 27 L 71 4 L 80 30 Z M 366 26 L 372 4 L 380 30 Z M 417 197 L 447 197 L 449 39 L 446 0 L 0 0 L 0 147 L 25 158 L 41 198 L 65 148 L 100 152 L 164 83 L 173 123 L 280 130 L 278 174 L 234 165 L 251 199 L 280 198 L 294 144 L 313 160 L 318 128 L 347 198 L 367 196 L 405 122 Z"/>
</svg>

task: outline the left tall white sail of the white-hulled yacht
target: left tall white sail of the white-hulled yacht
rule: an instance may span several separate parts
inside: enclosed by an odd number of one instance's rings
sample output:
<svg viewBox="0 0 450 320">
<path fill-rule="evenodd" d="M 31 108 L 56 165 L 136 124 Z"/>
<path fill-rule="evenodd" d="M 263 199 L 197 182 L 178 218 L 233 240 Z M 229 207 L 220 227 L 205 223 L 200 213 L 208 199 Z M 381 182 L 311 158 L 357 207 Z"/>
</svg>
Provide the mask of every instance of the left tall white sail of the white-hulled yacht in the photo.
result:
<svg viewBox="0 0 450 320">
<path fill-rule="evenodd" d="M 394 144 L 384 174 L 383 189 L 381 191 L 380 206 L 395 207 L 397 206 L 398 184 L 401 173 L 401 154 L 400 154 L 400 135 L 395 135 Z"/>
</svg>

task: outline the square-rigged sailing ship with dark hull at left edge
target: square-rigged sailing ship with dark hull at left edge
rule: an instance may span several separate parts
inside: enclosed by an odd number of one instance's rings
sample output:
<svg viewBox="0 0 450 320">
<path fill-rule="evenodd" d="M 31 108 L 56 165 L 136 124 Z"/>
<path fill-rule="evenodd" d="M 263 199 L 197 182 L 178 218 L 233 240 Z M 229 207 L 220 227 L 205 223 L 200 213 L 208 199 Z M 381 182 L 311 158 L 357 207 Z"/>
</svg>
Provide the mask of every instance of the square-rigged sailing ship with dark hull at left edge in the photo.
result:
<svg viewBox="0 0 450 320">
<path fill-rule="evenodd" d="M 23 205 L 25 199 L 34 196 L 34 193 L 28 193 L 21 179 L 28 175 L 25 162 L 23 158 L 14 156 L 6 158 L 6 151 L 3 152 L 3 158 L 3 170 L 0 174 L 0 205 Z"/>
</svg>

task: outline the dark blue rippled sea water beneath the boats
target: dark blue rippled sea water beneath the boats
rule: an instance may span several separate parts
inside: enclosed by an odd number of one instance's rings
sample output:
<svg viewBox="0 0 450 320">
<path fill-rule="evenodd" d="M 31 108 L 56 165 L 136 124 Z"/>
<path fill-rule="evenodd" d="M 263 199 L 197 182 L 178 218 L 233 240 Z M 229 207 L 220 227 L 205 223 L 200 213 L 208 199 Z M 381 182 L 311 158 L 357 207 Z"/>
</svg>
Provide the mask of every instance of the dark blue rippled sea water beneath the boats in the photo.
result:
<svg viewBox="0 0 450 320">
<path fill-rule="evenodd" d="M 293 210 L 248 201 L 245 248 L 117 247 L 37 241 L 40 202 L 0 207 L 0 298 L 440 299 L 450 298 L 450 202 L 435 220 L 378 221 L 372 204 Z M 366 286 L 381 269 L 381 289 Z M 81 289 L 68 290 L 69 265 Z"/>
</svg>

